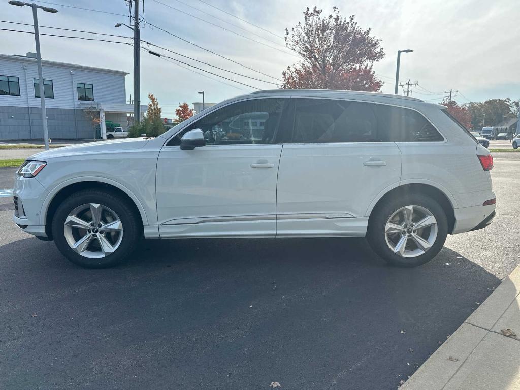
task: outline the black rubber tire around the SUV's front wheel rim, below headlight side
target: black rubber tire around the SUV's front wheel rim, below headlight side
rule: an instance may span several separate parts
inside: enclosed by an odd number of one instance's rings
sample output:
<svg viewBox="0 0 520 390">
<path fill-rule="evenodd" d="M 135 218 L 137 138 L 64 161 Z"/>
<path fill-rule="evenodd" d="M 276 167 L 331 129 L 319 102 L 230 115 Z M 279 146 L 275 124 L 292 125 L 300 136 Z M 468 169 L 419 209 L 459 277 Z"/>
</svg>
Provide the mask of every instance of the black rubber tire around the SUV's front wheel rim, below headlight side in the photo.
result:
<svg viewBox="0 0 520 390">
<path fill-rule="evenodd" d="M 69 213 L 86 203 L 98 203 L 109 207 L 121 220 L 123 237 L 118 248 L 102 258 L 84 257 L 70 248 L 65 238 L 64 224 Z M 142 223 L 135 207 L 125 198 L 110 190 L 85 189 L 71 194 L 61 202 L 52 221 L 54 242 L 58 250 L 72 263 L 85 268 L 107 268 L 125 261 L 141 238 Z"/>
</svg>

